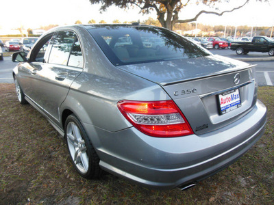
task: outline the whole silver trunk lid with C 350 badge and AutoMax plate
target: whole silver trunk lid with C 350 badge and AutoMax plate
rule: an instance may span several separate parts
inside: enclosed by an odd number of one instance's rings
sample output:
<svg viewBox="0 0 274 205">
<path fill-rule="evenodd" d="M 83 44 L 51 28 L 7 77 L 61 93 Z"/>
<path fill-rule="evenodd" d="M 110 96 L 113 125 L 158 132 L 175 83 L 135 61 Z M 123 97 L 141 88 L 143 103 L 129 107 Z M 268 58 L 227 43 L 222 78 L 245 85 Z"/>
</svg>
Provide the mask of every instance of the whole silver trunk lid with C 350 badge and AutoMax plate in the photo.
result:
<svg viewBox="0 0 274 205">
<path fill-rule="evenodd" d="M 256 104 L 253 66 L 226 57 L 210 56 L 119 68 L 160 84 L 197 135 L 227 126 L 242 118 Z M 225 102 L 229 98 L 236 99 Z"/>
</svg>

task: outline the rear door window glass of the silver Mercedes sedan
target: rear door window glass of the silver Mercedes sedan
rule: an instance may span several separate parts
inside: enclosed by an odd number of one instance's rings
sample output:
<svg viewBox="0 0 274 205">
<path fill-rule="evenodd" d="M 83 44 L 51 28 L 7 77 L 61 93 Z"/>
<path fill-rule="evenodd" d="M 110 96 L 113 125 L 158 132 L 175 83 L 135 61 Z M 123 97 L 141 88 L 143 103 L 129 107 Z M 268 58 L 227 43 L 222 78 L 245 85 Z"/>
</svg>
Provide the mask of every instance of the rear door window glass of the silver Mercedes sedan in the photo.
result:
<svg viewBox="0 0 274 205">
<path fill-rule="evenodd" d="M 58 32 L 49 55 L 49 64 L 82 68 L 82 50 L 77 35 L 73 31 Z"/>
</svg>

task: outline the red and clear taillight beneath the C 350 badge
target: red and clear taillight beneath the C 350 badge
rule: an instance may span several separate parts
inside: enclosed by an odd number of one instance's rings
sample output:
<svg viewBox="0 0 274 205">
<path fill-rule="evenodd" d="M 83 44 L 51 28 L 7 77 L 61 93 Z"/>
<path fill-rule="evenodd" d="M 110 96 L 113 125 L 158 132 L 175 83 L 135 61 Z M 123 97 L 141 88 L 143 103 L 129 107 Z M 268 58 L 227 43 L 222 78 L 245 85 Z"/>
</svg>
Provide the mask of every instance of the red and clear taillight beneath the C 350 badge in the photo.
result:
<svg viewBox="0 0 274 205">
<path fill-rule="evenodd" d="M 146 135 L 179 137 L 193 134 L 186 118 L 173 100 L 122 100 L 117 106 L 125 118 Z"/>
</svg>

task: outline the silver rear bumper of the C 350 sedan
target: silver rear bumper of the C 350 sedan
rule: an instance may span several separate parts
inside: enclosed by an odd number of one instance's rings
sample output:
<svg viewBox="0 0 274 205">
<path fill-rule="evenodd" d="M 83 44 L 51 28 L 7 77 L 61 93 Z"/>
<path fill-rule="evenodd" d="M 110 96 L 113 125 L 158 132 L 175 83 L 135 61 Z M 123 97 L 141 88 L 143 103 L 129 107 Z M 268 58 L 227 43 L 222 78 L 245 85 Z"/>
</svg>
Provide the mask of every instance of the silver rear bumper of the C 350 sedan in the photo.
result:
<svg viewBox="0 0 274 205">
<path fill-rule="evenodd" d="M 134 127 L 109 133 L 84 126 L 94 136 L 103 169 L 149 187 L 171 189 L 199 181 L 238 159 L 263 135 L 265 123 L 266 107 L 258 101 L 240 120 L 199 136 L 158 138 Z"/>
</svg>

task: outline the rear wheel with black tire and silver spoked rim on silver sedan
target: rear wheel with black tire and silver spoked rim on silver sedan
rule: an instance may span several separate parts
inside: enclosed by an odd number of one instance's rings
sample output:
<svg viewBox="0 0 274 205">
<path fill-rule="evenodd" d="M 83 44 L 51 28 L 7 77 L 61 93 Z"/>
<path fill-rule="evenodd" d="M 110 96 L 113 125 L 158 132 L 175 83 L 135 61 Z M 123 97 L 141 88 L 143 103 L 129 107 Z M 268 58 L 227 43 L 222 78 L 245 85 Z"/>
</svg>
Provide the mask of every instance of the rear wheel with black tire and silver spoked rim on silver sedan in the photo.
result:
<svg viewBox="0 0 274 205">
<path fill-rule="evenodd" d="M 86 179 L 99 178 L 103 173 L 99 167 L 99 156 L 75 115 L 66 118 L 64 132 L 73 167 L 79 175 Z"/>
</svg>

